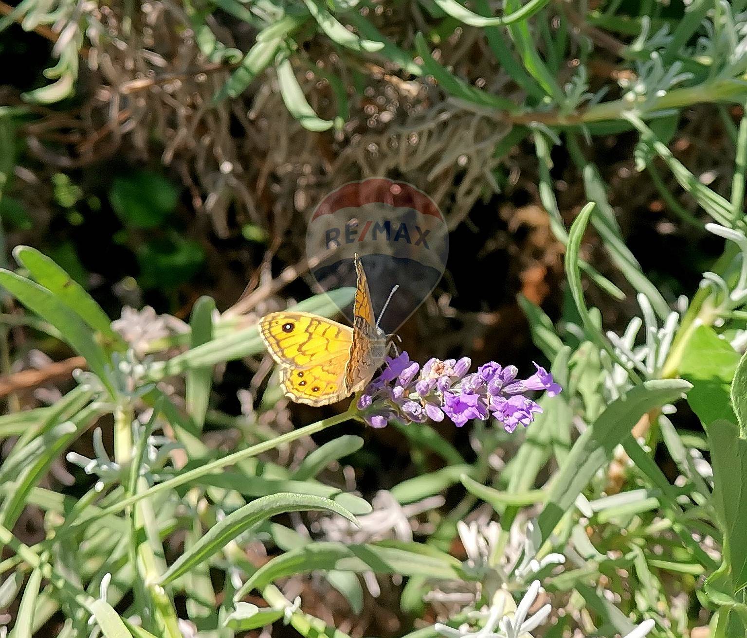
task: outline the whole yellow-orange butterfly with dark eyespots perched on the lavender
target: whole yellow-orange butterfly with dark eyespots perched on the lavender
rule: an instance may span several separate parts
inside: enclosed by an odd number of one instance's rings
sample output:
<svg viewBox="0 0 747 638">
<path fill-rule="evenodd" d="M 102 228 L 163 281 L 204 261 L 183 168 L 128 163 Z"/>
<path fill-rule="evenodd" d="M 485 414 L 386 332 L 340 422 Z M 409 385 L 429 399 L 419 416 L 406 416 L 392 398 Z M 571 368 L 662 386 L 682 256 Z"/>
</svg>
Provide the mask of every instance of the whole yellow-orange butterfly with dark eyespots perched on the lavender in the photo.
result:
<svg viewBox="0 0 747 638">
<path fill-rule="evenodd" d="M 279 363 L 285 396 L 297 403 L 319 406 L 340 401 L 362 390 L 384 363 L 387 336 L 373 315 L 371 291 L 357 254 L 355 266 L 353 328 L 302 312 L 270 313 L 259 322 L 264 345 Z"/>
</svg>

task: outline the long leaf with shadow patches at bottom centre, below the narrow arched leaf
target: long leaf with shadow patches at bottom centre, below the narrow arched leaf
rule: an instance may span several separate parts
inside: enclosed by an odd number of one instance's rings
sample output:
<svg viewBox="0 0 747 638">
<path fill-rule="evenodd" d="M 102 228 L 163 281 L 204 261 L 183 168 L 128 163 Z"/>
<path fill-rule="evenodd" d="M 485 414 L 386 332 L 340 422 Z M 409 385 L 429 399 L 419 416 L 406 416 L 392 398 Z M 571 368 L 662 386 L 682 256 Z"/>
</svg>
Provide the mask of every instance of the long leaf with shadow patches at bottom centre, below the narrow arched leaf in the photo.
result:
<svg viewBox="0 0 747 638">
<path fill-rule="evenodd" d="M 403 576 L 424 575 L 452 580 L 463 578 L 460 563 L 426 545 L 345 545 L 342 542 L 310 542 L 264 563 L 234 596 L 240 600 L 252 589 L 261 589 L 278 578 L 308 574 L 317 569 L 341 572 L 376 572 Z"/>
</svg>

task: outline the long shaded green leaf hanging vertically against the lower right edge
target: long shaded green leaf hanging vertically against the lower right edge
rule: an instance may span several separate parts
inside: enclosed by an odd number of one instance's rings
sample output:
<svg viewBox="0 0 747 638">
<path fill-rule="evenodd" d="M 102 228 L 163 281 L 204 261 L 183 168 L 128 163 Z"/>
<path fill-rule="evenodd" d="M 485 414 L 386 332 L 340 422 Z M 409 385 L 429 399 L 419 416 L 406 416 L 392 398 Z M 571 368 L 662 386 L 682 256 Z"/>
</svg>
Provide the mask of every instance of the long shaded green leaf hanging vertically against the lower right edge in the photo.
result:
<svg viewBox="0 0 747 638">
<path fill-rule="evenodd" d="M 706 431 L 713 465 L 713 507 L 721 524 L 723 558 L 733 593 L 747 585 L 747 440 L 731 422 L 719 420 Z"/>
</svg>

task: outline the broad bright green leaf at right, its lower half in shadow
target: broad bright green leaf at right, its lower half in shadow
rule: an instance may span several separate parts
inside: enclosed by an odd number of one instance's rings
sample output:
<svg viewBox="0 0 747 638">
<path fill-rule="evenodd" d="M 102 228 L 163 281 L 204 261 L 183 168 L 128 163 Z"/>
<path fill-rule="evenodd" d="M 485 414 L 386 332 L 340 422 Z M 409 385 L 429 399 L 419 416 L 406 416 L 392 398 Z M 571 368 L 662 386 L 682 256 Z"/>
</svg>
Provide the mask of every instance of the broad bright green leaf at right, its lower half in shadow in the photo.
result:
<svg viewBox="0 0 747 638">
<path fill-rule="evenodd" d="M 703 425 L 718 419 L 737 422 L 729 402 L 740 355 L 706 325 L 699 325 L 684 346 L 680 375 L 692 384 L 687 402 Z"/>
</svg>

